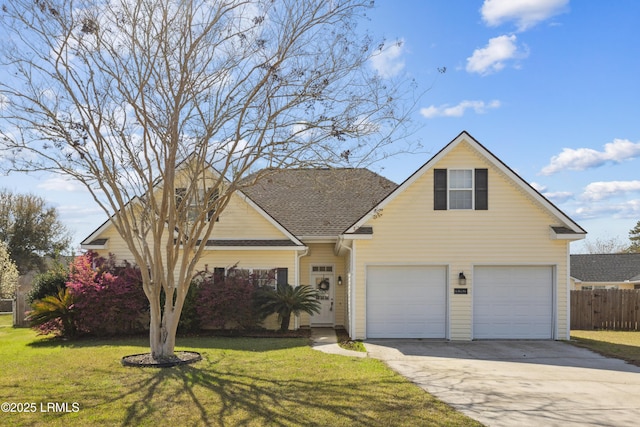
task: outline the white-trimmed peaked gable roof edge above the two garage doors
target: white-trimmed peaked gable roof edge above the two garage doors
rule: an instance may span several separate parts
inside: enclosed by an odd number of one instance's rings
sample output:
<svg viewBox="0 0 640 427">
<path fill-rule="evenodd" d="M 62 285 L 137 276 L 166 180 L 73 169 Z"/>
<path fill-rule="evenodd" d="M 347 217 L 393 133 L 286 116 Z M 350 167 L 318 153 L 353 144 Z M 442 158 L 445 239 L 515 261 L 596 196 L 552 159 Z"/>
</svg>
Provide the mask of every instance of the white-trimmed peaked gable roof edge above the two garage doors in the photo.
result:
<svg viewBox="0 0 640 427">
<path fill-rule="evenodd" d="M 558 207 L 556 207 L 553 203 L 551 203 L 547 198 L 545 198 L 542 194 L 540 194 L 536 189 L 534 189 L 529 183 L 527 183 L 520 175 L 515 173 L 509 166 L 507 166 L 502 160 L 496 157 L 491 151 L 489 151 L 486 147 L 480 144 L 475 138 L 473 138 L 467 131 L 462 131 L 458 136 L 456 136 L 449 144 L 447 144 L 444 148 L 438 151 L 431 159 L 429 159 L 422 167 L 420 167 L 416 172 L 413 173 L 409 178 L 407 178 L 402 184 L 400 184 L 393 192 L 391 192 L 384 200 L 382 200 L 379 204 L 374 206 L 369 212 L 363 215 L 356 222 L 351 224 L 345 230 L 343 230 L 343 234 L 353 234 L 356 230 L 362 227 L 367 221 L 369 221 L 379 210 L 383 209 L 389 202 L 395 199 L 400 193 L 402 193 L 407 187 L 413 184 L 416 180 L 422 177 L 427 171 L 429 171 L 437 162 L 439 162 L 443 157 L 449 154 L 455 147 L 460 145 L 462 142 L 467 142 L 473 149 L 475 149 L 478 153 L 480 153 L 486 160 L 489 161 L 494 167 L 503 172 L 507 177 L 509 177 L 517 186 L 519 186 L 526 194 L 528 194 L 531 198 L 536 200 L 544 209 L 549 211 L 553 216 L 555 216 L 561 226 L 559 224 L 555 224 L 551 226 L 551 232 L 553 233 L 556 239 L 568 239 L 568 240 L 577 240 L 584 237 L 587 232 L 578 225 L 574 220 L 569 218 L 564 212 L 562 212 Z"/>
</svg>

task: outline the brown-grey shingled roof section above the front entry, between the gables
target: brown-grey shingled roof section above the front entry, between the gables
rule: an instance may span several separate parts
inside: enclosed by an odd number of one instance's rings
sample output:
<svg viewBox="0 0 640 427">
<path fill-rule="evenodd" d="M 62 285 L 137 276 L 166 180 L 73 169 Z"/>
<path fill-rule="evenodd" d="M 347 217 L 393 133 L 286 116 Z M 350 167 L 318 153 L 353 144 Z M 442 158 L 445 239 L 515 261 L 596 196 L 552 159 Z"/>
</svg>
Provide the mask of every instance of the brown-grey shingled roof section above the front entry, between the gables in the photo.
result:
<svg viewBox="0 0 640 427">
<path fill-rule="evenodd" d="M 368 169 L 291 169 L 242 191 L 296 236 L 335 237 L 396 187 Z"/>
</svg>

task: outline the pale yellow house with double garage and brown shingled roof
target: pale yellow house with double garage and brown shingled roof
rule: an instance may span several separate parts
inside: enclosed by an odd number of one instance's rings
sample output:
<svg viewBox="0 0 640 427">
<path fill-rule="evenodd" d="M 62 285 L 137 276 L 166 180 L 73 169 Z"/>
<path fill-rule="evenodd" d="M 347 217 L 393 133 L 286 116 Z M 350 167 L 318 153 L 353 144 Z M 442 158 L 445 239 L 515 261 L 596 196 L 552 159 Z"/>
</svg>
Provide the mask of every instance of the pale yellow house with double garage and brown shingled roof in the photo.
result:
<svg viewBox="0 0 640 427">
<path fill-rule="evenodd" d="M 568 339 L 586 232 L 462 132 L 400 185 L 366 169 L 273 173 L 236 193 L 200 261 L 320 289 L 295 327 L 354 339 Z M 83 247 L 127 258 L 107 221 Z"/>
</svg>

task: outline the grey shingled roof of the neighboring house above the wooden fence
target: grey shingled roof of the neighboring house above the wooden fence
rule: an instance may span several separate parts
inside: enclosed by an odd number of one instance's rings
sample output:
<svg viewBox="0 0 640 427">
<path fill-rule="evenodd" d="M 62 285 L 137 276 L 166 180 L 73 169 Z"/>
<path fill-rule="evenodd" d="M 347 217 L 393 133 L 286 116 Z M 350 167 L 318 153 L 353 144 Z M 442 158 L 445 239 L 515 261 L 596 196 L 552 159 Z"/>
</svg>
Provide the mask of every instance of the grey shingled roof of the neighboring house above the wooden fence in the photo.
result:
<svg viewBox="0 0 640 427">
<path fill-rule="evenodd" d="M 571 277 L 582 282 L 640 282 L 640 253 L 571 255 Z"/>
</svg>

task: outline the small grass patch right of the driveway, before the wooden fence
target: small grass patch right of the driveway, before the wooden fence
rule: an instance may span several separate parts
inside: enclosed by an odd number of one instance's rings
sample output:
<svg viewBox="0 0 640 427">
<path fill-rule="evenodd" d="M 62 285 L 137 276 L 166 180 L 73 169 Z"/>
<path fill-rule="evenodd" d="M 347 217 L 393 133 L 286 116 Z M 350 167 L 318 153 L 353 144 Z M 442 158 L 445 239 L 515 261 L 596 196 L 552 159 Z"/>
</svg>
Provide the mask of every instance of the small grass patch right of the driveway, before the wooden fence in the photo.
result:
<svg viewBox="0 0 640 427">
<path fill-rule="evenodd" d="M 571 342 L 604 356 L 616 357 L 640 366 L 640 332 L 571 331 Z"/>
</svg>

